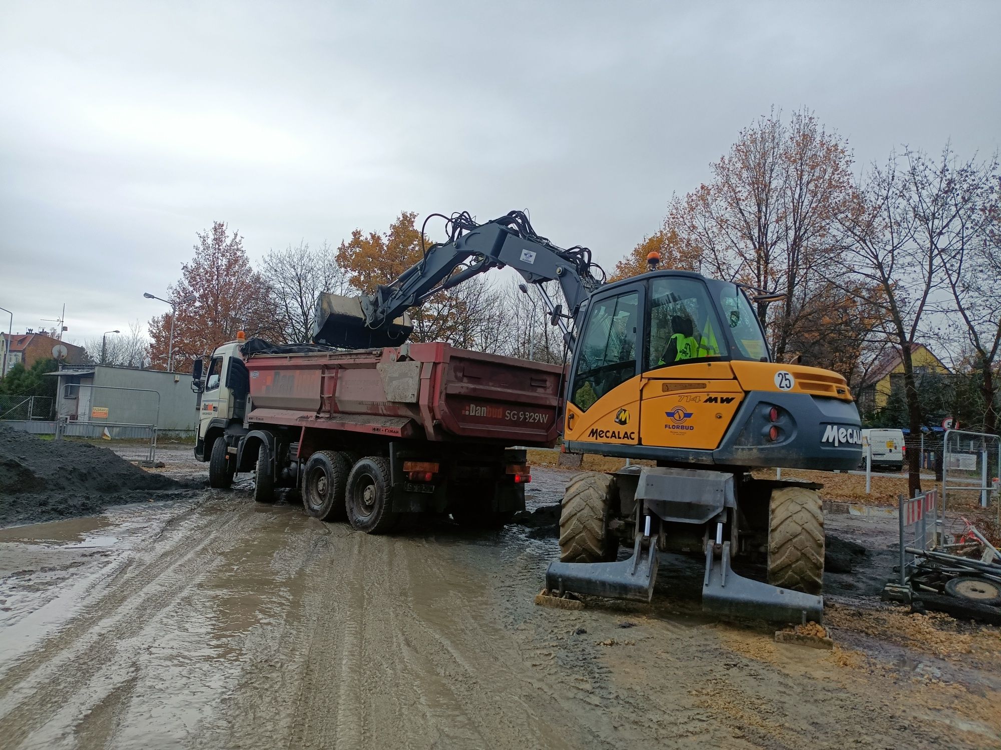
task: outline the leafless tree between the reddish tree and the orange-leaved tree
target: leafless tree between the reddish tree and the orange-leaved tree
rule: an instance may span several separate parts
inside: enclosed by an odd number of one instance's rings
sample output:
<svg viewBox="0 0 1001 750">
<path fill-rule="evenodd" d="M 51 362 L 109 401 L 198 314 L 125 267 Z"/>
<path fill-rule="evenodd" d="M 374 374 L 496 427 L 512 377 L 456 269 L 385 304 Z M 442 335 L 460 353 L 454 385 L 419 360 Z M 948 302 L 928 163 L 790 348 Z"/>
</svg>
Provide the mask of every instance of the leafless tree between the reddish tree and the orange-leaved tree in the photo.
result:
<svg viewBox="0 0 1001 750">
<path fill-rule="evenodd" d="M 347 278 L 337 265 L 333 248 L 324 240 L 317 248 L 300 241 L 284 250 L 271 250 L 260 266 L 271 291 L 281 343 L 309 341 L 316 298 L 322 292 L 344 294 Z"/>
</svg>

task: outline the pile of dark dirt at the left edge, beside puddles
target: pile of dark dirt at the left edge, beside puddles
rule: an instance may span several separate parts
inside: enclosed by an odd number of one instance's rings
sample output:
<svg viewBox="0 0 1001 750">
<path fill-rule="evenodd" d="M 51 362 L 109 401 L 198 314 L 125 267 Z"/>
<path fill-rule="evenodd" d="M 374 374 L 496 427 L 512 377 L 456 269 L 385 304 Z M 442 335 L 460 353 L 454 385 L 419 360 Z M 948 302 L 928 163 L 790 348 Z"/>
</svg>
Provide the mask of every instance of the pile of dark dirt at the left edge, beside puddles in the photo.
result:
<svg viewBox="0 0 1001 750">
<path fill-rule="evenodd" d="M 180 487 L 107 448 L 0 428 L 0 525 L 88 515 Z"/>
</svg>

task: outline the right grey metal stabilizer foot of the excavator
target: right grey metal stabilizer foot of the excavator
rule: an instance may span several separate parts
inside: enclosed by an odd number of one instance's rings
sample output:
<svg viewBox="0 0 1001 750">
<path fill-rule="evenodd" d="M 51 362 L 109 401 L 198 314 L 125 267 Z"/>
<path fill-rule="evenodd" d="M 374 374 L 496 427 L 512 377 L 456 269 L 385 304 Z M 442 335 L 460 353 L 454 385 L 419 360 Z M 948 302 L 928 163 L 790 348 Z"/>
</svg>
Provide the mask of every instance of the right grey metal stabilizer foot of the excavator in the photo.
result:
<svg viewBox="0 0 1001 750">
<path fill-rule="evenodd" d="M 714 544 L 706 543 L 706 577 L 702 586 L 702 608 L 716 615 L 758 618 L 769 622 L 821 622 L 824 598 L 782 589 L 739 576 L 730 569 L 730 542 L 723 556 L 714 559 Z"/>
</svg>

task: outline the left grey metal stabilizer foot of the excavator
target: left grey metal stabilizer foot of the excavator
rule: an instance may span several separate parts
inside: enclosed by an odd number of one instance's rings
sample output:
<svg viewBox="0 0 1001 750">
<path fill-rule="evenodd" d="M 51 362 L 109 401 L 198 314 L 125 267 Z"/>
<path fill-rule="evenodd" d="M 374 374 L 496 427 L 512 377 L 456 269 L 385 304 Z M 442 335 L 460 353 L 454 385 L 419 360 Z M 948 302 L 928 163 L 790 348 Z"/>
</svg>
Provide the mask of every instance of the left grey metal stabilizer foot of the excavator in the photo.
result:
<svg viewBox="0 0 1001 750">
<path fill-rule="evenodd" d="M 611 599 L 635 599 L 649 602 L 657 580 L 657 542 L 651 540 L 646 550 L 643 537 L 637 537 L 633 556 L 615 563 L 552 562 L 546 570 L 546 588 L 563 594 L 592 594 Z"/>
</svg>

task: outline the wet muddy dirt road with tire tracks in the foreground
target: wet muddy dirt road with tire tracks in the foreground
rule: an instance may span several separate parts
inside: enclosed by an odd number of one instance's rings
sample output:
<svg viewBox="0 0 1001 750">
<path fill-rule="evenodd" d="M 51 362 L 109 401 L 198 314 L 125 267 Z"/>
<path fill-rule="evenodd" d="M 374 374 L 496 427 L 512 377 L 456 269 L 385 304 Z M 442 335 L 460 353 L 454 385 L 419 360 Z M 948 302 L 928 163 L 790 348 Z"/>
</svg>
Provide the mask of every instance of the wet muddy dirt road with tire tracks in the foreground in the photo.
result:
<svg viewBox="0 0 1001 750">
<path fill-rule="evenodd" d="M 536 607 L 556 549 L 245 489 L 0 530 L 0 746 L 1001 746 L 995 629 L 843 598 L 841 648 L 779 645 L 666 571 L 653 607 Z"/>
</svg>

